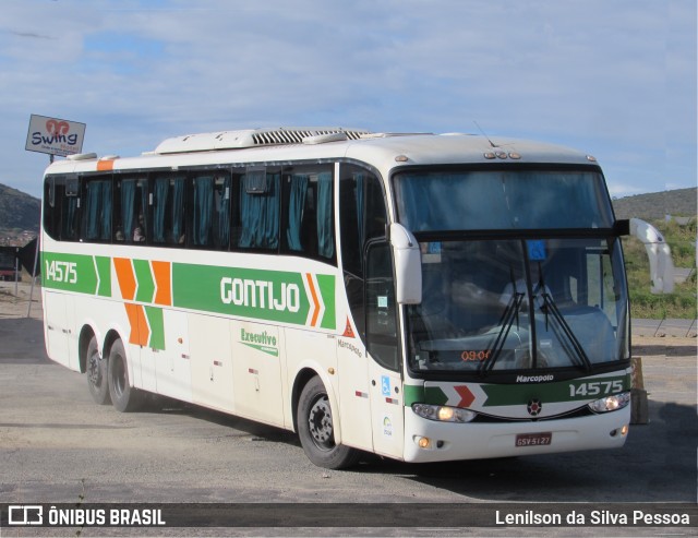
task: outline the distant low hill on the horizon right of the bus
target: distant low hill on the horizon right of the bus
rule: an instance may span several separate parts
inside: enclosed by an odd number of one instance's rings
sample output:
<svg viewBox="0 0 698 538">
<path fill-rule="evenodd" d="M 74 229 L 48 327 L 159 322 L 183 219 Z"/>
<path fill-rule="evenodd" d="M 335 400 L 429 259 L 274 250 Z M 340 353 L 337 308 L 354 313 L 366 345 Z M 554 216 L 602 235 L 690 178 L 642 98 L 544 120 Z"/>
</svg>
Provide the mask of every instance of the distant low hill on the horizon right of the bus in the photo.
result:
<svg viewBox="0 0 698 538">
<path fill-rule="evenodd" d="M 698 188 L 636 194 L 613 201 L 616 218 L 657 220 L 666 215 L 695 217 Z"/>
</svg>

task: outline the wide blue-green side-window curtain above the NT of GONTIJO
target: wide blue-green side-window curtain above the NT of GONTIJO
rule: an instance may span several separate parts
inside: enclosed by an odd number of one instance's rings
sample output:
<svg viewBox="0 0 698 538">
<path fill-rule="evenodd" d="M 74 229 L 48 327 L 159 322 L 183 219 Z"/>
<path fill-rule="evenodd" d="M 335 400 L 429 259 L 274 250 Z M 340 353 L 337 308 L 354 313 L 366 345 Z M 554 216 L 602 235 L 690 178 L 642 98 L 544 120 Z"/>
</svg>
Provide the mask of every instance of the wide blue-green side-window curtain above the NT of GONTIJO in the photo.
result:
<svg viewBox="0 0 698 538">
<path fill-rule="evenodd" d="M 240 182 L 240 216 L 242 248 L 278 248 L 280 174 L 267 174 L 269 188 L 261 194 L 250 194 Z"/>
</svg>

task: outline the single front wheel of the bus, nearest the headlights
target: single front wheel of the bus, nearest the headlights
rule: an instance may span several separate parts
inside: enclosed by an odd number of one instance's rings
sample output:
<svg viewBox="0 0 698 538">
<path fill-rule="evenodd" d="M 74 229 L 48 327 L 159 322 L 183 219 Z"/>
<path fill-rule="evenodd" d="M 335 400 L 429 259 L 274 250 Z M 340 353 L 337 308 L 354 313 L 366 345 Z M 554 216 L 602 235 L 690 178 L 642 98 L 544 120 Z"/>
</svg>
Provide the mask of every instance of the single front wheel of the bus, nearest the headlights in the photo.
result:
<svg viewBox="0 0 698 538">
<path fill-rule="evenodd" d="M 327 469 L 344 469 L 358 462 L 359 451 L 335 444 L 327 391 L 317 376 L 311 379 L 301 392 L 297 423 L 303 451 L 313 464 Z"/>
</svg>

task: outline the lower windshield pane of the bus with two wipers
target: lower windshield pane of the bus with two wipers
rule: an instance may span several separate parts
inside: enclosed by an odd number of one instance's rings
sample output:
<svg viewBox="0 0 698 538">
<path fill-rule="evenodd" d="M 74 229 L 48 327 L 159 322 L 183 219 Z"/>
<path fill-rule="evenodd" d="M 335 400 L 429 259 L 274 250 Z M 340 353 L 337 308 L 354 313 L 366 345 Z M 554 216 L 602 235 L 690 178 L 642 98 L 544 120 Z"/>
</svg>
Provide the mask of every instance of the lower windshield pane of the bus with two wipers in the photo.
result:
<svg viewBox="0 0 698 538">
<path fill-rule="evenodd" d="M 408 307 L 416 371 L 575 367 L 628 359 L 618 240 L 429 241 Z"/>
</svg>

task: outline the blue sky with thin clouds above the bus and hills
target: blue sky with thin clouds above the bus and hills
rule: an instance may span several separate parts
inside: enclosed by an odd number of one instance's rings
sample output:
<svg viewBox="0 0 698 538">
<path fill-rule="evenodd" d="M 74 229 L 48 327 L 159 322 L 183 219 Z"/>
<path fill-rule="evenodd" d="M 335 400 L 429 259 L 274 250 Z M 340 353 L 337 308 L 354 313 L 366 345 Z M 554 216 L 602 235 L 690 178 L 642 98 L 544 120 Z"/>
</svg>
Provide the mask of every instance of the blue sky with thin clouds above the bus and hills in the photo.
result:
<svg viewBox="0 0 698 538">
<path fill-rule="evenodd" d="M 576 147 L 612 195 L 696 187 L 695 0 L 3 0 L 0 182 L 40 194 L 29 116 L 83 151 L 279 125 Z"/>
</svg>

